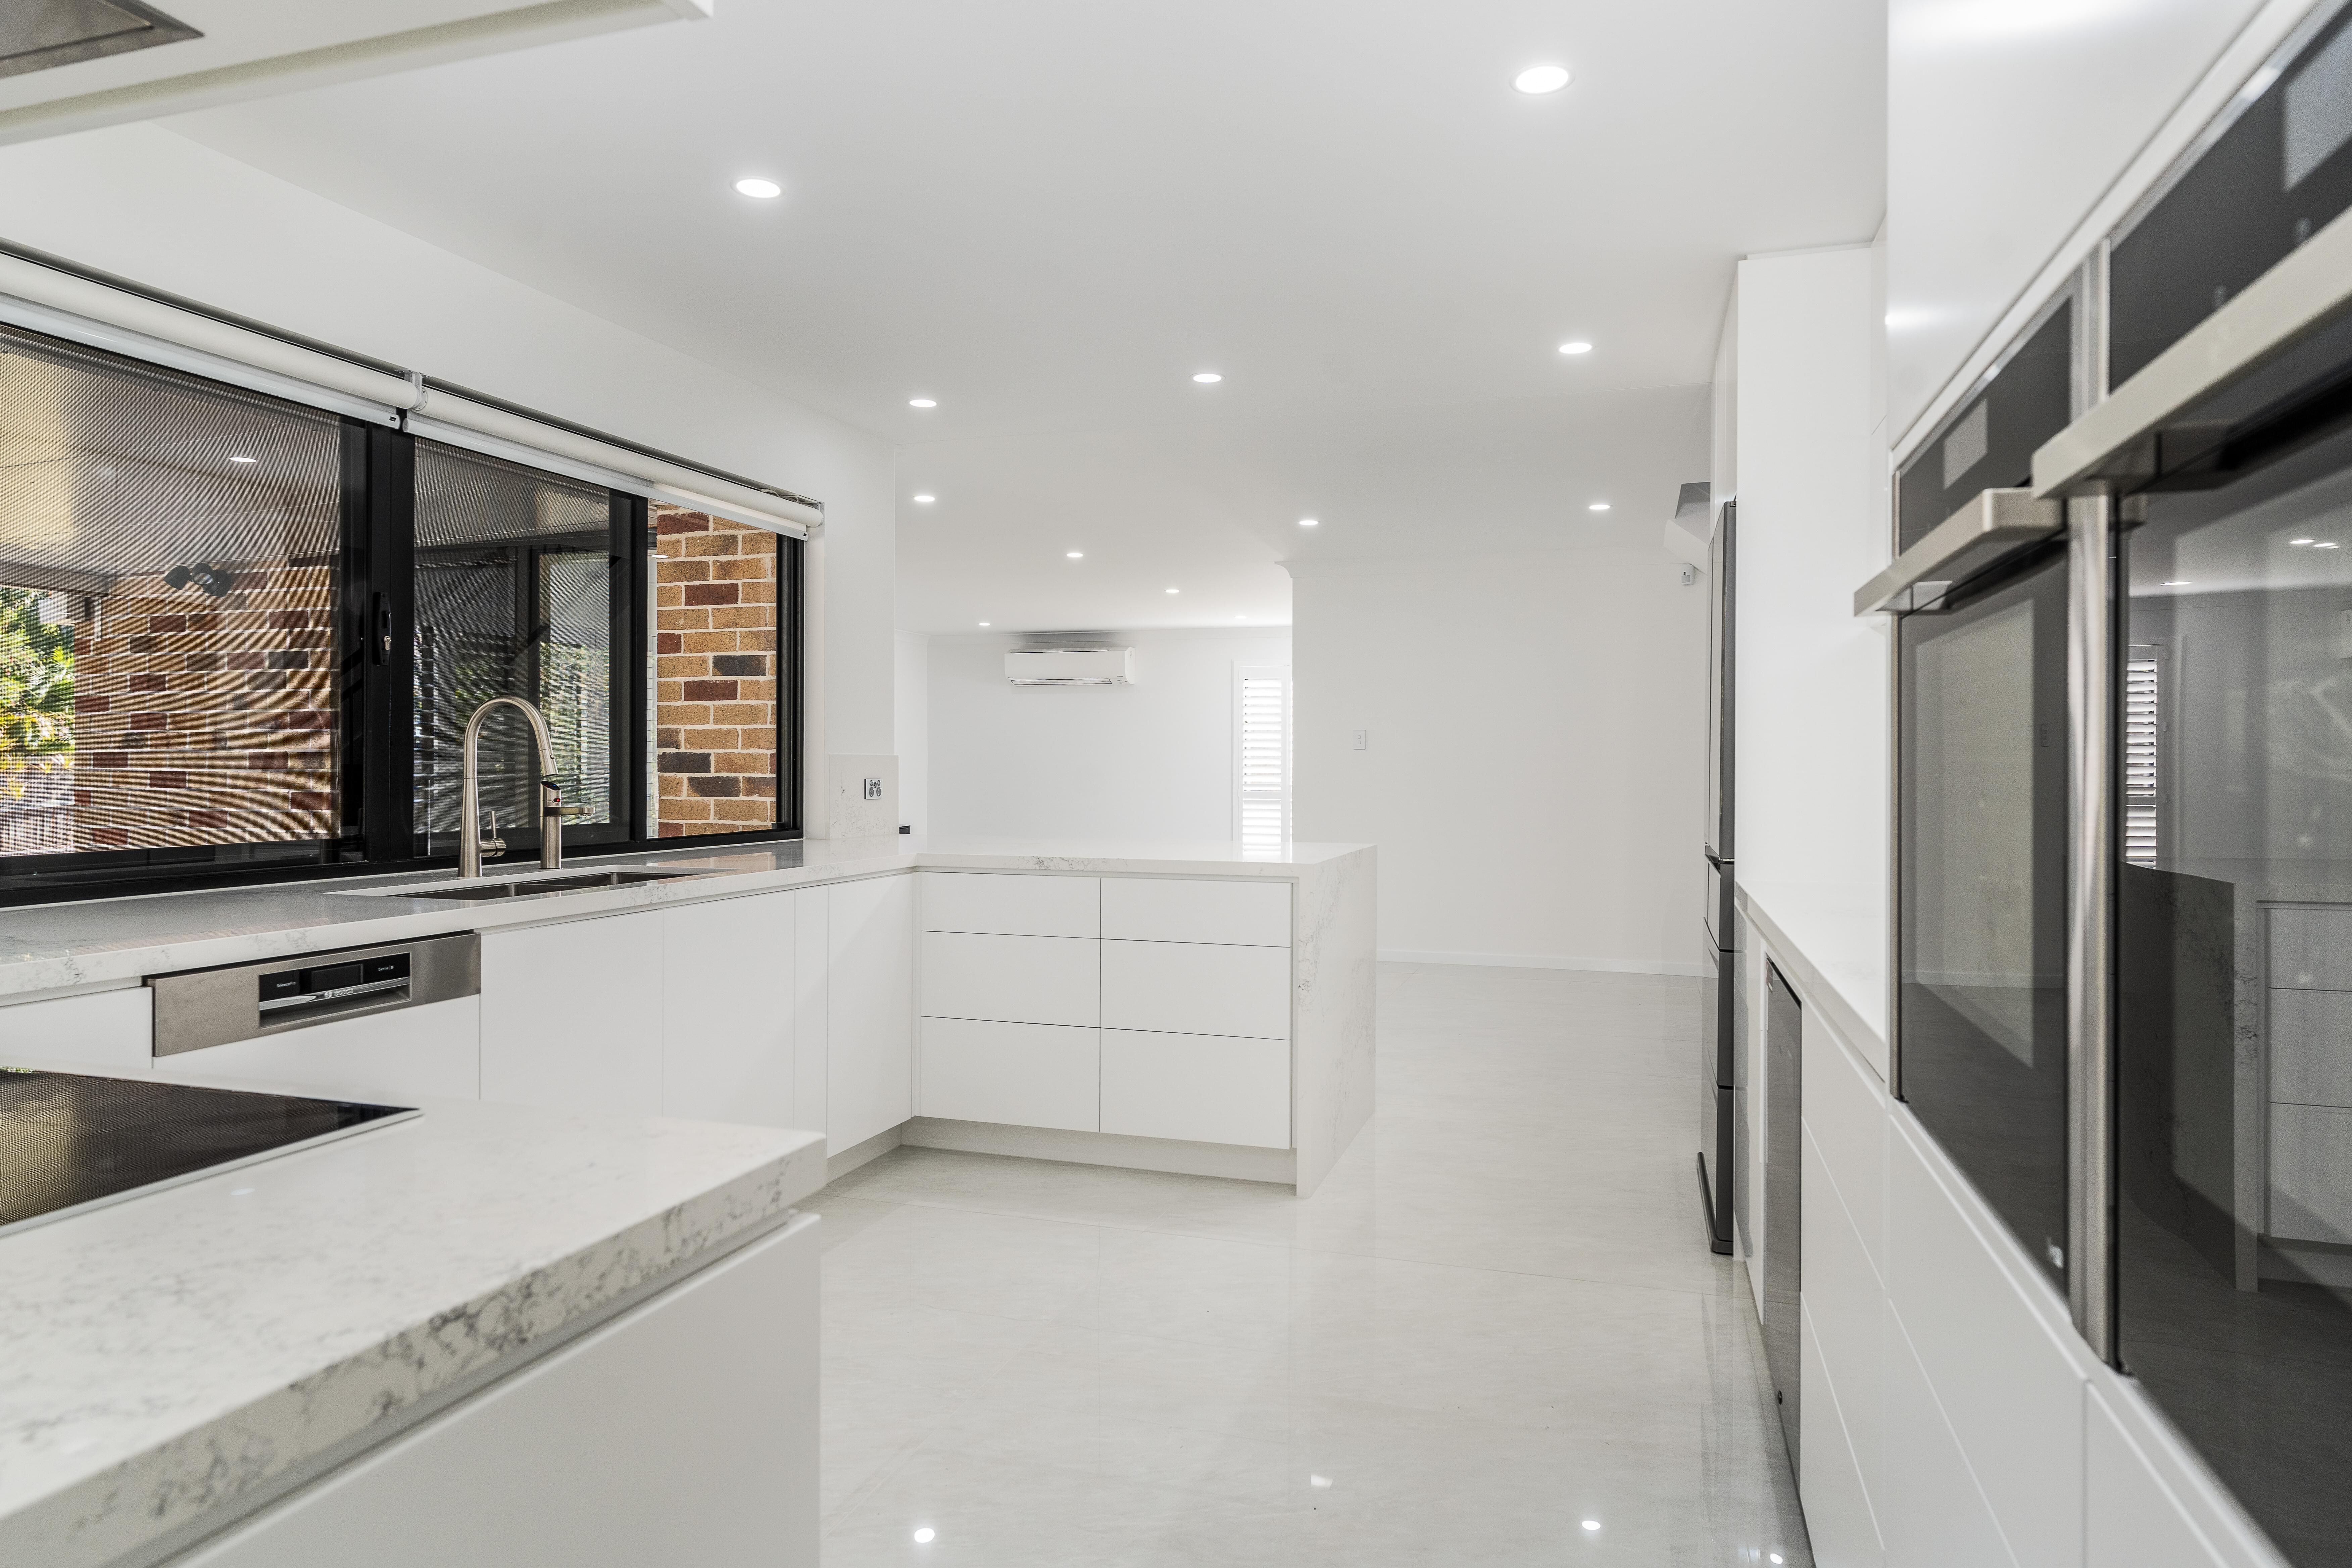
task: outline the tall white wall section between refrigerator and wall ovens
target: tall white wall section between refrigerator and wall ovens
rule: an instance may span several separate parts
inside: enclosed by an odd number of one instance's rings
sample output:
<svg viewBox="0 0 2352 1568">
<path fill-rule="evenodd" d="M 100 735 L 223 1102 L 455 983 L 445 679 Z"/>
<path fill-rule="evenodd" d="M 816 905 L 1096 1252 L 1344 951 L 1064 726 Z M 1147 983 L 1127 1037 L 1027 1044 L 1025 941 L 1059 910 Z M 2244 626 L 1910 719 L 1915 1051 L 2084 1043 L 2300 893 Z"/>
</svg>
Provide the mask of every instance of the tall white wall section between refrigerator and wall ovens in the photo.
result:
<svg viewBox="0 0 2352 1568">
<path fill-rule="evenodd" d="M 1889 559 L 1875 247 L 1738 270 L 1738 884 L 1886 1039 Z"/>
</svg>

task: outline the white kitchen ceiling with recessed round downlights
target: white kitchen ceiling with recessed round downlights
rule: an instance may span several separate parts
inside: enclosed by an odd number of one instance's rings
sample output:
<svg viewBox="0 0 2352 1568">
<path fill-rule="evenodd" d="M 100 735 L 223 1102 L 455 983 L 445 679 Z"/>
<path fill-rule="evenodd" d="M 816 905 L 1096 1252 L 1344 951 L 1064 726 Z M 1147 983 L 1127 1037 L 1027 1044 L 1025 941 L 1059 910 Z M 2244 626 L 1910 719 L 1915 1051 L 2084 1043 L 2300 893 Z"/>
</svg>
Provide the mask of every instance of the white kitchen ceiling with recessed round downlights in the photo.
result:
<svg viewBox="0 0 2352 1568">
<path fill-rule="evenodd" d="M 1877 228 L 1882 82 L 1877 0 L 722 0 L 172 125 L 898 444 L 903 625 L 1230 625 L 1653 531 L 1733 259 Z"/>
</svg>

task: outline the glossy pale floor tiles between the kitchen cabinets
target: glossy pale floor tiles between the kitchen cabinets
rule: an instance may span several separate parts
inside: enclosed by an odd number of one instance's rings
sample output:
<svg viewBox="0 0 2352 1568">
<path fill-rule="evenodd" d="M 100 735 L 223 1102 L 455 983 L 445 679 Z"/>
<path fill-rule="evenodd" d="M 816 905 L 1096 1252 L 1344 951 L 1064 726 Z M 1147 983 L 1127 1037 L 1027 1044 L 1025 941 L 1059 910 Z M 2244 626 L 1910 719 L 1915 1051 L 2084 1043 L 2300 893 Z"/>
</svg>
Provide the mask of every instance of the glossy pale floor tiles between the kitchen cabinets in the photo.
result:
<svg viewBox="0 0 2352 1568">
<path fill-rule="evenodd" d="M 1811 1563 L 1700 1234 L 1696 985 L 1383 966 L 1378 1117 L 1308 1201 L 828 1187 L 826 1566 Z"/>
</svg>

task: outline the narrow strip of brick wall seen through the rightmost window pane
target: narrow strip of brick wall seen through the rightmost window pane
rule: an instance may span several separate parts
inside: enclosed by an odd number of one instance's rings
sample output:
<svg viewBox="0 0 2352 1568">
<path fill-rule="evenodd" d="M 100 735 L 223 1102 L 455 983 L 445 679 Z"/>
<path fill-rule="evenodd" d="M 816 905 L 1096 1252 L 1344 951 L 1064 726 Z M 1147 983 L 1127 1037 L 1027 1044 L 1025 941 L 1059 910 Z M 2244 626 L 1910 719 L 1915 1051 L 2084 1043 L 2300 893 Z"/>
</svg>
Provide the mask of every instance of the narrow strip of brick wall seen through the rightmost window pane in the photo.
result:
<svg viewBox="0 0 2352 1568">
<path fill-rule="evenodd" d="M 652 508 L 661 837 L 776 825 L 776 536 Z"/>
</svg>

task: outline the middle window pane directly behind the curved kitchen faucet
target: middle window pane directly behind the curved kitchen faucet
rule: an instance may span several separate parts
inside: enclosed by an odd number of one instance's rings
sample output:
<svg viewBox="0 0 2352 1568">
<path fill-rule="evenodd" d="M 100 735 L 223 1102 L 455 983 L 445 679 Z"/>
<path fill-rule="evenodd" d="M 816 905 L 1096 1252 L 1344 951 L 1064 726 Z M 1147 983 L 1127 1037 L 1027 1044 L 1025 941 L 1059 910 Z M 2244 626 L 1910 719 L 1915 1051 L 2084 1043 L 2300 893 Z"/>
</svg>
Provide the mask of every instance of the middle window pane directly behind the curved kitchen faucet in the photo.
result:
<svg viewBox="0 0 2352 1568">
<path fill-rule="evenodd" d="M 412 816 L 426 853 L 456 846 L 466 719 L 496 696 L 546 715 L 564 802 L 588 809 L 564 839 L 628 837 L 614 813 L 616 574 L 607 491 L 416 444 Z M 522 715 L 485 724 L 477 766 L 482 823 L 506 858 L 536 853 L 539 757 Z"/>
</svg>

